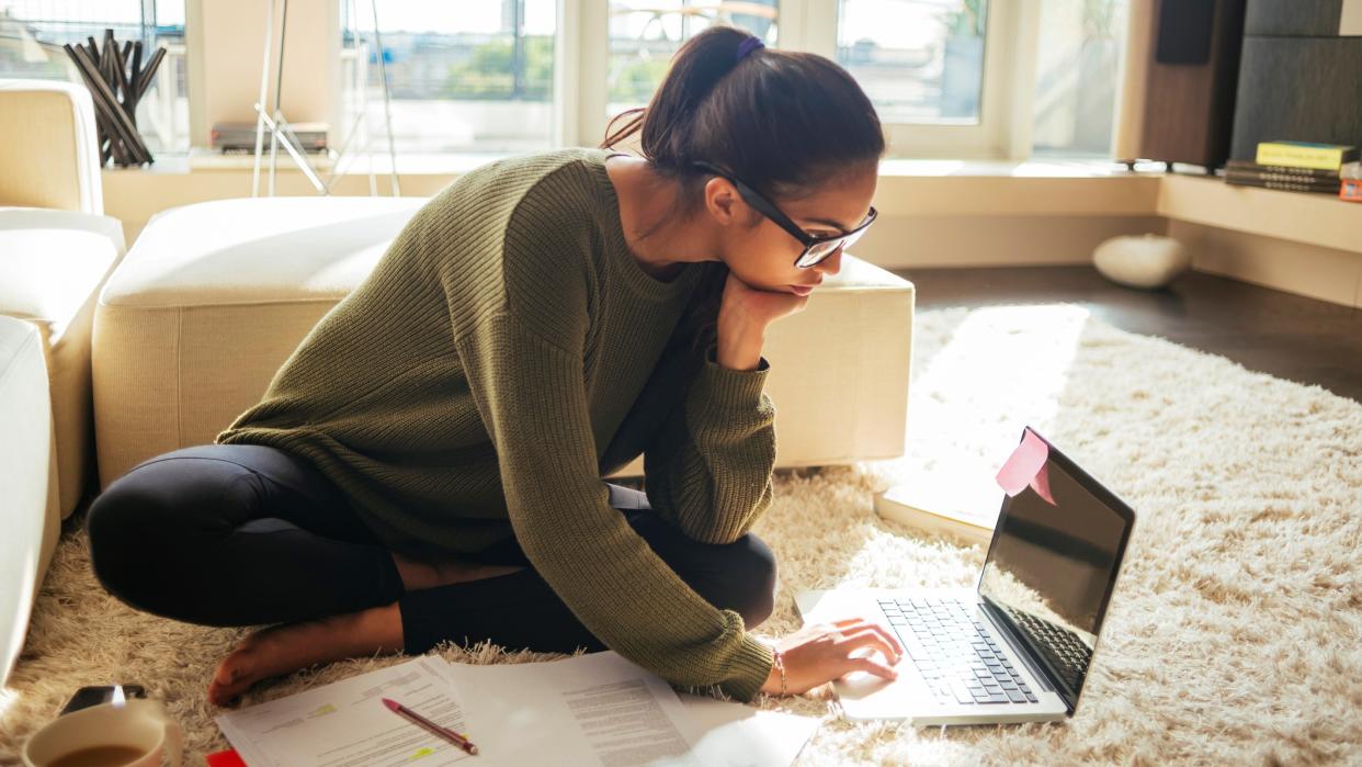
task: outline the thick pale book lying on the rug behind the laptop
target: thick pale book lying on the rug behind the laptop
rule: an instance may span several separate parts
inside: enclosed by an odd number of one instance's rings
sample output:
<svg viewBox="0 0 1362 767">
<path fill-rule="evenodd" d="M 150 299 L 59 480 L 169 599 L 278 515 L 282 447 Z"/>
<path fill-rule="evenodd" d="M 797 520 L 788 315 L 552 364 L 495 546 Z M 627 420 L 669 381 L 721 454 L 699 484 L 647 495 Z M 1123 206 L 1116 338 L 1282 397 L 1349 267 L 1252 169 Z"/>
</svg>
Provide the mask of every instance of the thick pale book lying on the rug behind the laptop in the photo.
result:
<svg viewBox="0 0 1362 767">
<path fill-rule="evenodd" d="M 885 519 L 985 548 L 993 541 L 1001 508 L 1002 490 L 990 477 L 922 477 L 874 495 L 874 511 Z"/>
</svg>

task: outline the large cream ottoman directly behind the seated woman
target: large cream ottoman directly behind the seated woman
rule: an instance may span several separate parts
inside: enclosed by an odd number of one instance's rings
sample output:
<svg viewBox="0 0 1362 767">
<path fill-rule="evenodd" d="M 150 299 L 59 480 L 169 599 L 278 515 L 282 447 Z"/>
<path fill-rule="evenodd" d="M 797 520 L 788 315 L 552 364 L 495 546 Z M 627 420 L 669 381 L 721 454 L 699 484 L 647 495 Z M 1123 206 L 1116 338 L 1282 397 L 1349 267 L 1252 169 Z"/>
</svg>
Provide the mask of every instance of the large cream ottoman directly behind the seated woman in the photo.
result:
<svg viewBox="0 0 1362 767">
<path fill-rule="evenodd" d="M 95 311 L 102 486 L 203 444 L 255 405 L 321 316 L 383 256 L 418 198 L 262 198 L 153 218 Z M 778 463 L 903 452 L 913 285 L 843 259 L 768 339 Z M 642 474 L 642 460 L 621 474 Z"/>
</svg>

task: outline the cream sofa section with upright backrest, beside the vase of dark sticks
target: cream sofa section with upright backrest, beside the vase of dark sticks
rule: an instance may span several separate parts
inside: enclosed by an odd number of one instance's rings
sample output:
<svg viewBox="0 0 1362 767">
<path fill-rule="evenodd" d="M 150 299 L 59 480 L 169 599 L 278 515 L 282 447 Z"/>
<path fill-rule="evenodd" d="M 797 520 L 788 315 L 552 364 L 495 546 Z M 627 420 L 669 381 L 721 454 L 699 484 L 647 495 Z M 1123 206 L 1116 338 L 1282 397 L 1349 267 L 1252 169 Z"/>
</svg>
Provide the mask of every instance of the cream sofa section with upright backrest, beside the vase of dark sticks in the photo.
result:
<svg viewBox="0 0 1362 767">
<path fill-rule="evenodd" d="M 123 223 L 104 215 L 97 140 L 83 86 L 0 80 L 0 315 L 42 341 L 63 518 L 94 477 L 90 330 L 124 252 Z"/>
</svg>

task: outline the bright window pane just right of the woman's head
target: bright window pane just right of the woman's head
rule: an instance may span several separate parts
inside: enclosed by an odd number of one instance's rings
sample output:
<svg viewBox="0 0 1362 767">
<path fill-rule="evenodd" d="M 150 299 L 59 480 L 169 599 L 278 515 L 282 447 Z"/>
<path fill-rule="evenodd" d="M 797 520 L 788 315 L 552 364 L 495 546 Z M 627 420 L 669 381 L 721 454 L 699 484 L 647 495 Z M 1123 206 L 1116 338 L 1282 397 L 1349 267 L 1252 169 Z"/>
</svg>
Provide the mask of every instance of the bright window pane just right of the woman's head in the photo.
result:
<svg viewBox="0 0 1362 767">
<path fill-rule="evenodd" d="M 838 63 L 885 123 L 977 124 L 987 0 L 840 0 Z"/>
</svg>

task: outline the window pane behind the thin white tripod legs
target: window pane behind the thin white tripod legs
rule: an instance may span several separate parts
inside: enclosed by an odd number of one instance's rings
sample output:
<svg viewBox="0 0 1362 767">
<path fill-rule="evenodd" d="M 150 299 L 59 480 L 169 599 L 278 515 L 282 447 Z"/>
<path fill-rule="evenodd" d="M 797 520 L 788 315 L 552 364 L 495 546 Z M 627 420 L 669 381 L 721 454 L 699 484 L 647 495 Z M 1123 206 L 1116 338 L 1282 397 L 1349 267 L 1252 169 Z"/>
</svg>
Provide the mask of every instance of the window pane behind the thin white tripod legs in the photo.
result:
<svg viewBox="0 0 1362 767">
<path fill-rule="evenodd" d="M 533 151 L 553 135 L 554 0 L 381 0 L 383 67 L 398 153 Z M 350 151 L 387 151 L 373 7 L 340 0 Z M 368 127 L 358 121 L 368 116 Z"/>
</svg>

